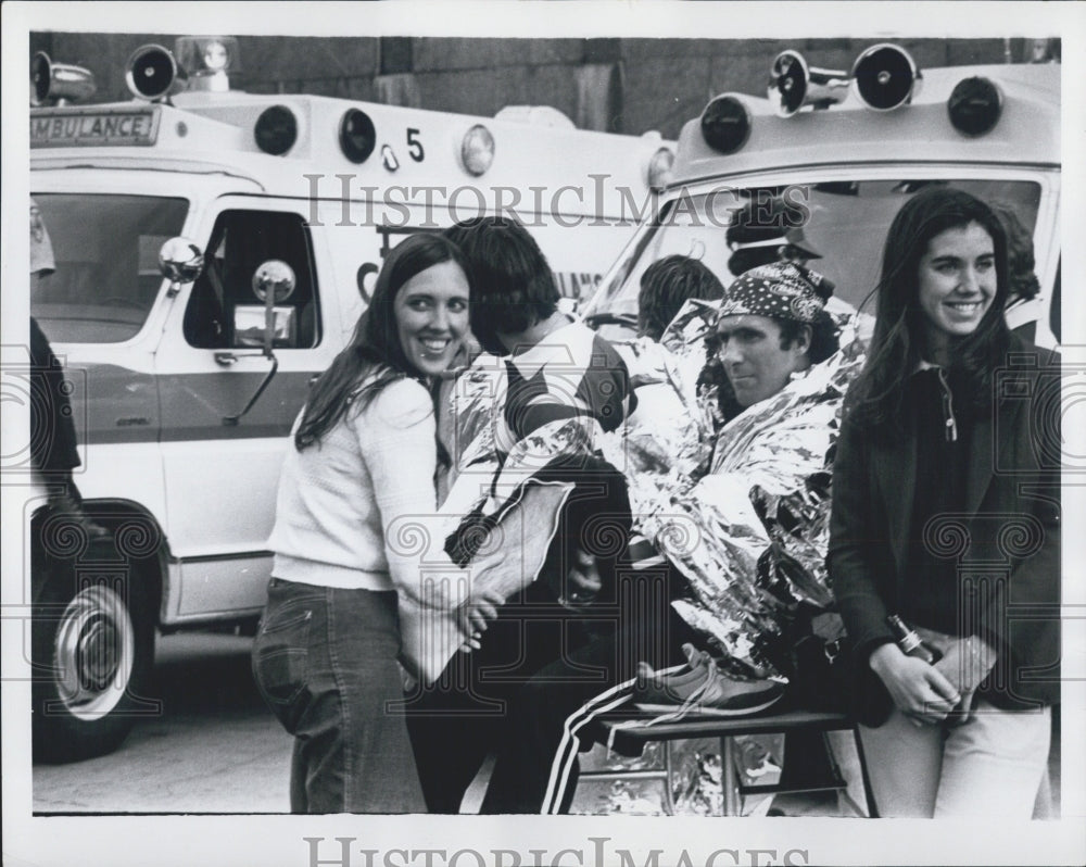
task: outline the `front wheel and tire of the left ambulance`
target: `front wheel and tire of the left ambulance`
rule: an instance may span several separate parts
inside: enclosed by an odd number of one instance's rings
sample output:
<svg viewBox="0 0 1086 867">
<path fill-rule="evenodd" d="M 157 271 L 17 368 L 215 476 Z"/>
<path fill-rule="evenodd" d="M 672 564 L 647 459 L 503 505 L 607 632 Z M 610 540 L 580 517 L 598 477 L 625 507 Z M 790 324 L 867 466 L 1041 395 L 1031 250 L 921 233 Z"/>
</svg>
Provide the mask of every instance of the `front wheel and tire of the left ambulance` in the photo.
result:
<svg viewBox="0 0 1086 867">
<path fill-rule="evenodd" d="M 37 553 L 42 574 L 36 576 L 30 627 L 34 758 L 64 763 L 105 755 L 156 706 L 148 698 L 155 611 L 149 576 L 138 565 L 81 575 L 74 560 Z"/>
</svg>

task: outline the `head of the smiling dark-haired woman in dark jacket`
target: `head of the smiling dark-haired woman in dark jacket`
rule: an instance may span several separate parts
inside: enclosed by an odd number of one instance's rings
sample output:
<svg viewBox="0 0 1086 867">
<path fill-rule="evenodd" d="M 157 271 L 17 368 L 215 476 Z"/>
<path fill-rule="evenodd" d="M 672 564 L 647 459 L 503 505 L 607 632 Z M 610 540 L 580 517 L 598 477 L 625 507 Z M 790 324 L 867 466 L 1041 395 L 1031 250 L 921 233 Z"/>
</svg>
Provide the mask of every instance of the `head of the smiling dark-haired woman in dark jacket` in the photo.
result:
<svg viewBox="0 0 1086 867">
<path fill-rule="evenodd" d="M 1005 332 L 1007 242 L 980 199 L 929 187 L 902 205 L 883 249 L 873 349 L 900 340 L 947 364 L 957 350 Z"/>
</svg>

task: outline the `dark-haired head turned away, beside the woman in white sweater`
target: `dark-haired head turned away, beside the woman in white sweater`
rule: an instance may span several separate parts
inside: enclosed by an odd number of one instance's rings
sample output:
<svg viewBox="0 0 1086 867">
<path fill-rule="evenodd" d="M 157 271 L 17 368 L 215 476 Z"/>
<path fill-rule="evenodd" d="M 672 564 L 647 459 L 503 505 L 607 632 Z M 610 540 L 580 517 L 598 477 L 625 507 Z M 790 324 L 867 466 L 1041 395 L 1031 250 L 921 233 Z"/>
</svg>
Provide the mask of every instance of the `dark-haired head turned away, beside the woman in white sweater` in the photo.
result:
<svg viewBox="0 0 1086 867">
<path fill-rule="evenodd" d="M 558 310 L 558 288 L 546 256 L 515 219 L 472 217 L 445 229 L 444 236 L 467 260 L 471 331 L 487 352 L 508 355 L 508 343 Z"/>
</svg>

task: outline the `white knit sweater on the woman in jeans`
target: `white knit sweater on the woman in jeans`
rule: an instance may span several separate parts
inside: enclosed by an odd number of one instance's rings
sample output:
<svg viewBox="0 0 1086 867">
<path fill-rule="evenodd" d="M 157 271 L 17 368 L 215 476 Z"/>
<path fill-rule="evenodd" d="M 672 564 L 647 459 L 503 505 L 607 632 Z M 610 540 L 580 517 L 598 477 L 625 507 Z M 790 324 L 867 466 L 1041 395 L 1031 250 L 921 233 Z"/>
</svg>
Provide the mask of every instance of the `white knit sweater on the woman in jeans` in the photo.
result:
<svg viewBox="0 0 1086 867">
<path fill-rule="evenodd" d="M 319 443 L 299 452 L 292 442 L 269 540 L 273 575 L 417 593 L 418 551 L 395 540 L 405 519 L 433 515 L 435 465 L 433 404 L 413 379 L 386 386 L 362 412 L 349 410 Z"/>
</svg>

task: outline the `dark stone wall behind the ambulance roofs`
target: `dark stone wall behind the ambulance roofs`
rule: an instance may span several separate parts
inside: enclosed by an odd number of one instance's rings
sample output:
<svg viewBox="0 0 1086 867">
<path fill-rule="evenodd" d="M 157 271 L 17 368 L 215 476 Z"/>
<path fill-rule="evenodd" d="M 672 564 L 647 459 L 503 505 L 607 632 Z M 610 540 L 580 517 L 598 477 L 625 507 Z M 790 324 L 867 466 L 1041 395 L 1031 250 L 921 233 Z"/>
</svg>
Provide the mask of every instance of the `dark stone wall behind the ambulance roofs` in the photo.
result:
<svg viewBox="0 0 1086 867">
<path fill-rule="evenodd" d="M 86 66 L 97 102 L 128 100 L 125 64 L 148 42 L 177 35 L 34 33 L 30 52 Z M 553 105 L 578 126 L 659 130 L 675 138 L 717 93 L 765 96 L 769 67 L 786 48 L 813 66 L 848 70 L 871 39 L 480 39 L 429 37 L 238 37 L 232 86 L 256 93 L 307 92 L 435 111 L 493 115 L 505 105 Z M 1032 41 L 901 39 L 923 70 L 1023 62 Z"/>
</svg>

